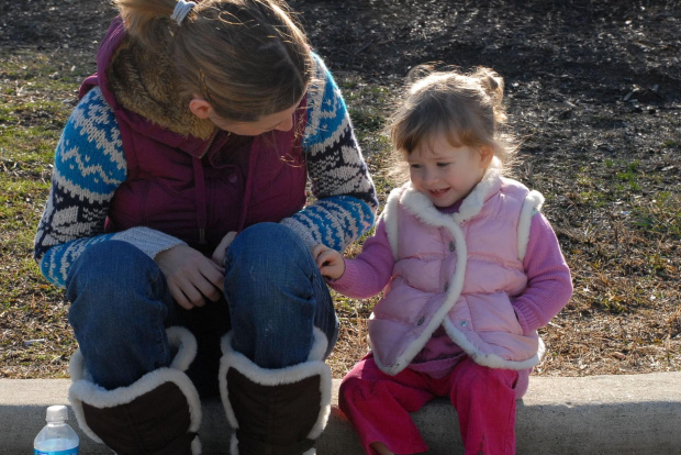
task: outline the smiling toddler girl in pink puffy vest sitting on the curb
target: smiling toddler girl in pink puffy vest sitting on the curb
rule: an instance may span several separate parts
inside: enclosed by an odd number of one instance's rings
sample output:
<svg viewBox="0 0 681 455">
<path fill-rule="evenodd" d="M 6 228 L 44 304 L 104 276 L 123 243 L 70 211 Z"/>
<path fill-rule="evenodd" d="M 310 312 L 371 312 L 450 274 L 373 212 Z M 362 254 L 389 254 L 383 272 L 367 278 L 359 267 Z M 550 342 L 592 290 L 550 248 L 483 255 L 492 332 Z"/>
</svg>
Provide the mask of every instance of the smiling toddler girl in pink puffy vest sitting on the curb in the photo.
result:
<svg viewBox="0 0 681 455">
<path fill-rule="evenodd" d="M 339 396 L 367 454 L 425 452 L 410 412 L 436 397 L 457 410 L 467 454 L 515 453 L 515 400 L 544 353 L 537 329 L 572 285 L 544 198 L 503 177 L 515 147 L 502 100 L 489 68 L 416 80 L 391 122 L 410 181 L 356 259 L 313 247 L 336 291 L 383 291 L 371 353 Z"/>
</svg>

